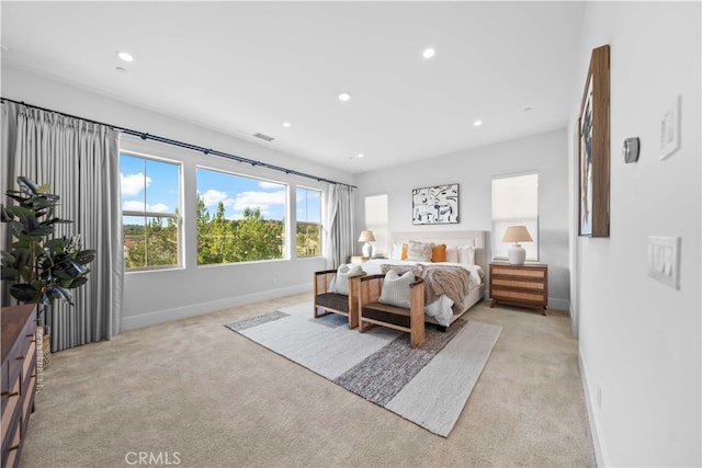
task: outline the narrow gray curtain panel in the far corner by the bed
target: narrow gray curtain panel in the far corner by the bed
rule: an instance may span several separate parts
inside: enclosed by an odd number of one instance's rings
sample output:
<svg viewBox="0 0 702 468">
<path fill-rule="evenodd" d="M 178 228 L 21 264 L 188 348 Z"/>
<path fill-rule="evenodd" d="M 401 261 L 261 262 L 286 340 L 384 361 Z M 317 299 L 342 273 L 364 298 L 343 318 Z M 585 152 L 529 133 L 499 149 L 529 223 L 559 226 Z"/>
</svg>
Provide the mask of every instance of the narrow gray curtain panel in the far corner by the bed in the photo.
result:
<svg viewBox="0 0 702 468">
<path fill-rule="evenodd" d="M 327 189 L 326 206 L 324 255 L 327 267 L 336 269 L 347 263 L 354 251 L 353 187 L 330 184 Z"/>
</svg>

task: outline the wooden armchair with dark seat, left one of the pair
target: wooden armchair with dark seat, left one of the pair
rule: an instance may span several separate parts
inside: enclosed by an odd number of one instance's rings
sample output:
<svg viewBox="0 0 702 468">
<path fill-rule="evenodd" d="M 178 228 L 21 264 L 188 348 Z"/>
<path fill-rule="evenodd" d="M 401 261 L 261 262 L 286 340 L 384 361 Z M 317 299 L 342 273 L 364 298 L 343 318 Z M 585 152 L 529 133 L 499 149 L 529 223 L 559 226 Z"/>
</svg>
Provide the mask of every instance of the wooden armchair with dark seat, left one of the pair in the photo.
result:
<svg viewBox="0 0 702 468">
<path fill-rule="evenodd" d="M 313 276 L 314 317 L 319 318 L 329 313 L 339 313 L 349 318 L 349 328 L 359 326 L 359 279 L 365 276 L 363 272 L 358 276 L 349 276 L 349 294 L 337 294 L 329 290 L 336 270 L 315 272 Z M 321 311 L 320 311 L 321 310 Z"/>
</svg>

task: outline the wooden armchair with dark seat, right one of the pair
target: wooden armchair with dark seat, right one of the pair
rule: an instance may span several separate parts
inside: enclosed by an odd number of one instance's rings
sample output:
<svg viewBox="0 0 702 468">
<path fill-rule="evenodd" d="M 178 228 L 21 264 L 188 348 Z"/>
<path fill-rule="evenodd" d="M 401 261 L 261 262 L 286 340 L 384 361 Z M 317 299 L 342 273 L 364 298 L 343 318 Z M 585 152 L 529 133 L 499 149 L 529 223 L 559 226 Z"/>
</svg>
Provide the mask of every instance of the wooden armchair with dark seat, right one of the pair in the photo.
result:
<svg viewBox="0 0 702 468">
<path fill-rule="evenodd" d="M 382 326 L 409 333 L 411 347 L 424 342 L 424 283 L 415 276 L 409 285 L 410 308 L 378 303 L 385 275 L 366 275 L 359 279 L 359 331 L 363 333 L 373 326 Z"/>
</svg>

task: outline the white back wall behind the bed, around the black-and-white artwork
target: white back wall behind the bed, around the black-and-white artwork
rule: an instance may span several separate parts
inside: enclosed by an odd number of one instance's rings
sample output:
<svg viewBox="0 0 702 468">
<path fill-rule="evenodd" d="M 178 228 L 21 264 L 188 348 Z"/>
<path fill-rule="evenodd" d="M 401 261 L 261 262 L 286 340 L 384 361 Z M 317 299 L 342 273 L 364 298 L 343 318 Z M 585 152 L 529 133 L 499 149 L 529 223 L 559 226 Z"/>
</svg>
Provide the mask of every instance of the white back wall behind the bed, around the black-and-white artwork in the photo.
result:
<svg viewBox="0 0 702 468">
<path fill-rule="evenodd" d="M 362 228 L 361 201 L 387 193 L 389 231 L 482 229 L 488 231 L 491 259 L 491 178 L 539 172 L 540 262 L 548 264 L 548 307 L 569 307 L 568 148 L 566 129 L 505 141 L 452 155 L 356 175 L 356 226 Z M 412 226 L 412 189 L 458 183 L 457 225 Z M 359 246 L 360 249 L 360 246 Z"/>
</svg>

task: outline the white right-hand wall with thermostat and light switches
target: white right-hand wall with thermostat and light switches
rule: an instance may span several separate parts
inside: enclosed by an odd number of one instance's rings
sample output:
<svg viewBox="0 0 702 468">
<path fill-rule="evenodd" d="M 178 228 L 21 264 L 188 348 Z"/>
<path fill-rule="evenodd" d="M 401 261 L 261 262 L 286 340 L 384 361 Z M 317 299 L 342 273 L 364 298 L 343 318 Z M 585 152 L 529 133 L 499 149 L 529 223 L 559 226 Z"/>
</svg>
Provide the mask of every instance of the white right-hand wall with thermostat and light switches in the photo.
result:
<svg viewBox="0 0 702 468">
<path fill-rule="evenodd" d="M 590 52 L 610 44 L 611 233 L 573 235 L 574 256 L 579 253 L 574 306 L 586 400 L 604 466 L 702 465 L 700 14 L 699 2 L 586 7 L 569 135 Z M 682 95 L 682 144 L 661 161 L 660 118 L 676 95 Z M 622 144 L 633 136 L 641 138 L 641 157 L 625 164 Z M 573 194 L 577 155 L 570 148 Z M 573 212 L 570 219 L 575 226 Z M 649 236 L 682 239 L 680 289 L 647 276 Z"/>
</svg>

